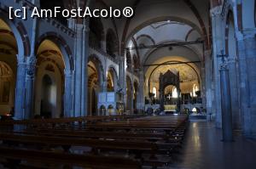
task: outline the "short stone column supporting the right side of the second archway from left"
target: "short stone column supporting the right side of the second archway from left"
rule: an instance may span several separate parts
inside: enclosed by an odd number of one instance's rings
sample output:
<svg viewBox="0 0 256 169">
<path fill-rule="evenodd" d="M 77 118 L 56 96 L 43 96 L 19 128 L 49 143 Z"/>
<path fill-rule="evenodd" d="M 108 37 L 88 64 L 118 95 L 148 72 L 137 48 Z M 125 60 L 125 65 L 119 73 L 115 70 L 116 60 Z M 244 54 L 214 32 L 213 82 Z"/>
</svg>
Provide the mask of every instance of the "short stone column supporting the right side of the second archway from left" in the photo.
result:
<svg viewBox="0 0 256 169">
<path fill-rule="evenodd" d="M 64 117 L 72 117 L 72 70 L 65 70 Z"/>
</svg>

